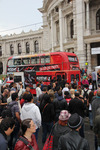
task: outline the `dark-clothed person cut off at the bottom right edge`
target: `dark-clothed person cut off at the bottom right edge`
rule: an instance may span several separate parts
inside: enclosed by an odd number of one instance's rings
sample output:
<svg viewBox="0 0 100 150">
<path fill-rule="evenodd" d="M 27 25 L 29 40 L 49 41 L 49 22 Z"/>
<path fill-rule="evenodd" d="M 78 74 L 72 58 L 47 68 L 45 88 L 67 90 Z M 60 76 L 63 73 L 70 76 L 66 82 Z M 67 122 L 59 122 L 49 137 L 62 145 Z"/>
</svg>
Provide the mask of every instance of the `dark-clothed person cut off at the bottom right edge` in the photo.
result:
<svg viewBox="0 0 100 150">
<path fill-rule="evenodd" d="M 96 111 L 95 121 L 94 121 L 94 133 L 97 138 L 96 149 L 100 150 L 100 108 Z"/>
</svg>

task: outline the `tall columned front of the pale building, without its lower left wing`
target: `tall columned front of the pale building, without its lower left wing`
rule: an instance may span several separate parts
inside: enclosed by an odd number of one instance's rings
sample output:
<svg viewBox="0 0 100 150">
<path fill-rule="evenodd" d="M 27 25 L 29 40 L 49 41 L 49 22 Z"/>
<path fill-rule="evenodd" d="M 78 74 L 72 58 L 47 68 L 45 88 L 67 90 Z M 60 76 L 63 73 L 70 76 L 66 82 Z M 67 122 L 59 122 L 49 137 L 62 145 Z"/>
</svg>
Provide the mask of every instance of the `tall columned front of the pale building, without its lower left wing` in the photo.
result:
<svg viewBox="0 0 100 150">
<path fill-rule="evenodd" d="M 44 0 L 45 50 L 74 52 L 88 72 L 100 65 L 100 0 Z"/>
</svg>

